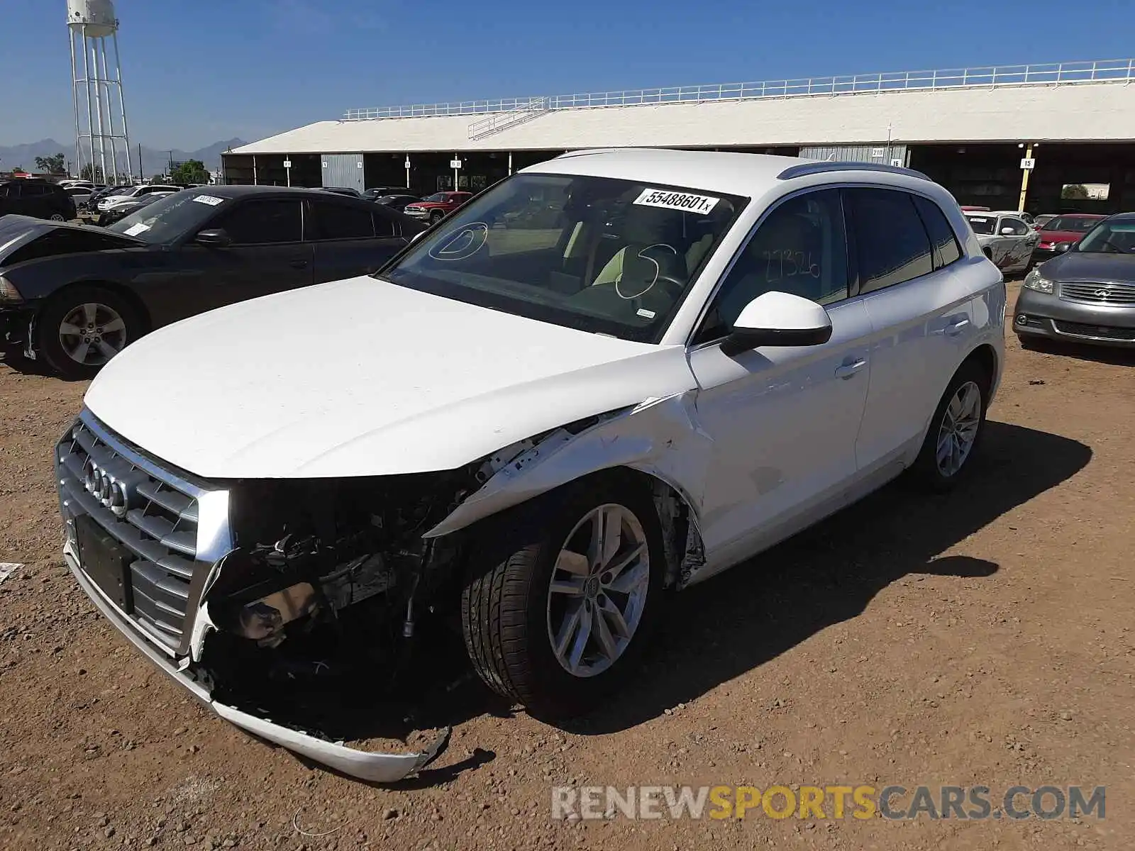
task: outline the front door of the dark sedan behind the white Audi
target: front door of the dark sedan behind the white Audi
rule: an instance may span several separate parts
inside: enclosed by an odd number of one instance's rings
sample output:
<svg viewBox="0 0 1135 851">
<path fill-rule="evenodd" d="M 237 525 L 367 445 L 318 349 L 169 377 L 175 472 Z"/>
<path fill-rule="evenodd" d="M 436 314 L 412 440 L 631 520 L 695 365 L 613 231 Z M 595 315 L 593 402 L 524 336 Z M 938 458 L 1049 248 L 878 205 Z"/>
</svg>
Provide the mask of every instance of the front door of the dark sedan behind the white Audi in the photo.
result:
<svg viewBox="0 0 1135 851">
<path fill-rule="evenodd" d="M 312 246 L 302 238 L 301 199 L 241 201 L 197 230 L 217 228 L 232 239 L 229 245 L 188 242 L 175 248 L 183 315 L 314 283 Z"/>
</svg>

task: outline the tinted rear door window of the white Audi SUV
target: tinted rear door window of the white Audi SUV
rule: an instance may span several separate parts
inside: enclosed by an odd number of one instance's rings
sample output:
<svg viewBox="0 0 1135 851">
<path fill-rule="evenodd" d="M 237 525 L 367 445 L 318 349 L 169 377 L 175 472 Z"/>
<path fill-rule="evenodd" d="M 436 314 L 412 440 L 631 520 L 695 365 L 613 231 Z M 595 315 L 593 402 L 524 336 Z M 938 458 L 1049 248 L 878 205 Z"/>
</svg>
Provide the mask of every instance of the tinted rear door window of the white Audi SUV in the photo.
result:
<svg viewBox="0 0 1135 851">
<path fill-rule="evenodd" d="M 847 189 L 859 260 L 859 292 L 873 293 L 934 270 L 914 197 L 899 189 Z"/>
</svg>

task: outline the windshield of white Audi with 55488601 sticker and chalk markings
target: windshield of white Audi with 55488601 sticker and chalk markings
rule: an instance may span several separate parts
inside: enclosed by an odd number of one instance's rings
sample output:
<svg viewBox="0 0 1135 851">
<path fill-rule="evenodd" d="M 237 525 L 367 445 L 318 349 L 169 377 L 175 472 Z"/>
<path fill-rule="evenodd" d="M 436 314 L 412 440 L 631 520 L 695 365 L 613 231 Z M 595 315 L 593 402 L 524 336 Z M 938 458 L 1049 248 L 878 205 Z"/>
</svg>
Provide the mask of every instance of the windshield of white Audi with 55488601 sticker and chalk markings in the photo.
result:
<svg viewBox="0 0 1135 851">
<path fill-rule="evenodd" d="M 381 277 L 568 328 L 657 342 L 746 199 L 607 177 L 511 177 Z"/>
</svg>

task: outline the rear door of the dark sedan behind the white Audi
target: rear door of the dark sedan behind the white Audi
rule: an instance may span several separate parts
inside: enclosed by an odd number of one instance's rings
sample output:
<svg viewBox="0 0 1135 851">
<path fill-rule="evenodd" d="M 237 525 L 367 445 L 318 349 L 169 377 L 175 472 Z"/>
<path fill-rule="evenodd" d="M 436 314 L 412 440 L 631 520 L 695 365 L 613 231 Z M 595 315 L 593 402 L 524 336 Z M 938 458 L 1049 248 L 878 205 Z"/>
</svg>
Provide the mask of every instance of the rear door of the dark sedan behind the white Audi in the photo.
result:
<svg viewBox="0 0 1135 851">
<path fill-rule="evenodd" d="M 314 251 L 314 283 L 371 275 L 406 242 L 379 204 L 306 201 L 304 241 Z"/>
</svg>

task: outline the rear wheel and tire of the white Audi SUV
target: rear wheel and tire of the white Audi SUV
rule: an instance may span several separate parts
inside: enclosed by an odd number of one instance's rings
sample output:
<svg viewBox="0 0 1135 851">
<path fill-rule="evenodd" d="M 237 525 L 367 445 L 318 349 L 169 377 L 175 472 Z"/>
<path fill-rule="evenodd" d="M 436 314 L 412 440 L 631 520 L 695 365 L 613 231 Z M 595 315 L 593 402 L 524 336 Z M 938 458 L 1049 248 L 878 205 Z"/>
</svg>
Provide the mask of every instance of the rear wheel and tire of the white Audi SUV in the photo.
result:
<svg viewBox="0 0 1135 851">
<path fill-rule="evenodd" d="M 973 360 L 962 363 L 950 379 L 910 469 L 930 490 L 950 490 L 973 466 L 972 458 L 985 432 L 990 381 L 991 377 Z"/>
</svg>

